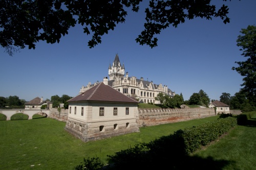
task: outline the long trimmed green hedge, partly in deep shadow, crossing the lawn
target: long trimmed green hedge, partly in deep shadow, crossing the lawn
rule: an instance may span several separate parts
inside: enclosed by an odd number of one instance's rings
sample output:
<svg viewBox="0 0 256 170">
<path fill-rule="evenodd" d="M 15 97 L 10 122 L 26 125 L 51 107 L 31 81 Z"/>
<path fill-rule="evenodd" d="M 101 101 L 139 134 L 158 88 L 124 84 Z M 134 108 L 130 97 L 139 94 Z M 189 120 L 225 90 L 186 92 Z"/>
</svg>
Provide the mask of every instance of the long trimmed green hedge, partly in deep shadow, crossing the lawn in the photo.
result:
<svg viewBox="0 0 256 170">
<path fill-rule="evenodd" d="M 99 167 L 99 159 L 84 159 L 83 164 L 77 165 L 76 170 L 90 169 L 176 169 L 184 163 L 190 153 L 218 139 L 224 133 L 237 125 L 235 117 L 220 118 L 198 127 L 178 130 L 174 134 L 162 136 L 148 143 L 140 143 L 130 149 L 121 150 L 114 155 L 108 155 L 110 165 Z M 92 168 L 92 165 L 95 165 Z M 179 164 L 179 165 L 178 165 Z"/>
</svg>

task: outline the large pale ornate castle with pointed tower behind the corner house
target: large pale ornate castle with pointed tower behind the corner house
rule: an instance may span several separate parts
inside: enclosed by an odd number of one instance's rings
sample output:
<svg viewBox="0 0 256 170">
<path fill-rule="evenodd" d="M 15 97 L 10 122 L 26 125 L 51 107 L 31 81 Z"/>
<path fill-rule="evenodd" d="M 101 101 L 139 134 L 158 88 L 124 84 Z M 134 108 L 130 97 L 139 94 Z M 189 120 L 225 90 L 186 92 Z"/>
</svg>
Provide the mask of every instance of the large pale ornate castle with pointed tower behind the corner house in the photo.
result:
<svg viewBox="0 0 256 170">
<path fill-rule="evenodd" d="M 120 64 L 117 54 L 112 66 L 111 64 L 109 65 L 109 79 L 105 77 L 103 82 L 127 96 L 134 96 L 140 103 L 159 104 L 159 101 L 156 101 L 155 97 L 160 92 L 169 95 L 171 98 L 175 95 L 175 92 L 170 90 L 167 85 L 157 85 L 154 84 L 153 81 L 145 81 L 142 77 L 140 79 L 134 76 L 129 77 L 128 72 L 125 73 L 124 71 L 124 64 Z M 82 86 L 79 94 L 97 84 L 99 84 L 99 82 L 94 84 L 88 83 L 87 86 Z"/>
</svg>

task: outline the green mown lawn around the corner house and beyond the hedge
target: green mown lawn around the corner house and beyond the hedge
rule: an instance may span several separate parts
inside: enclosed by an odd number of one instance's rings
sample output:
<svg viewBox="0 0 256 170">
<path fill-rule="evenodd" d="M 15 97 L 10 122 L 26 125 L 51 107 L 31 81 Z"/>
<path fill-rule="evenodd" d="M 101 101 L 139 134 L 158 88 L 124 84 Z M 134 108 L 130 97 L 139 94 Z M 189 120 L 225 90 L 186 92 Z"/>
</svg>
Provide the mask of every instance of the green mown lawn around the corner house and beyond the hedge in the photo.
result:
<svg viewBox="0 0 256 170">
<path fill-rule="evenodd" d="M 149 142 L 179 129 L 198 126 L 217 118 L 218 116 L 213 116 L 187 122 L 144 127 L 140 128 L 139 133 L 91 142 L 76 139 L 64 130 L 66 123 L 51 118 L 0 121 L 0 169 L 74 169 L 83 158 L 95 156 L 107 163 L 106 155 L 113 155 L 115 152 L 130 148 L 140 142 Z M 227 163 L 226 169 L 256 167 L 256 162 L 252 161 L 256 157 L 256 146 L 253 142 L 255 138 L 255 127 L 238 126 L 206 150 L 197 152 L 195 156 L 205 159 L 212 156 L 214 160 L 235 162 Z M 224 148 L 229 149 L 224 150 Z"/>
</svg>

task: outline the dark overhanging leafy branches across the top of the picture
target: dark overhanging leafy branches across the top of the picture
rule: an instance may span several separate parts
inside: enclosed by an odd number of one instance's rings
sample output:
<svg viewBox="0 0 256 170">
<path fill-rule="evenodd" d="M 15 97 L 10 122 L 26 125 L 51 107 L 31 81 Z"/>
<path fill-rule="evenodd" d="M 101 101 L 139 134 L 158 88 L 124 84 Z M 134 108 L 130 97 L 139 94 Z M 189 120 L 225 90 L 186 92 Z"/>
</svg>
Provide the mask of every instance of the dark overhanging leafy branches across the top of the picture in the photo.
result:
<svg viewBox="0 0 256 170">
<path fill-rule="evenodd" d="M 226 0 L 223 0 L 226 1 Z M 125 21 L 127 11 L 138 12 L 142 0 L 12 0 L 0 1 L 0 44 L 13 55 L 18 48 L 35 48 L 38 41 L 56 43 L 78 23 L 83 33 L 92 34 L 88 46 L 101 43 L 101 37 Z M 144 9 L 143 9 L 144 10 Z M 216 9 L 208 1 L 151 0 L 145 8 L 144 30 L 136 38 L 140 45 L 157 46 L 156 34 L 185 19 L 219 17 L 229 22 L 228 7 Z"/>
</svg>

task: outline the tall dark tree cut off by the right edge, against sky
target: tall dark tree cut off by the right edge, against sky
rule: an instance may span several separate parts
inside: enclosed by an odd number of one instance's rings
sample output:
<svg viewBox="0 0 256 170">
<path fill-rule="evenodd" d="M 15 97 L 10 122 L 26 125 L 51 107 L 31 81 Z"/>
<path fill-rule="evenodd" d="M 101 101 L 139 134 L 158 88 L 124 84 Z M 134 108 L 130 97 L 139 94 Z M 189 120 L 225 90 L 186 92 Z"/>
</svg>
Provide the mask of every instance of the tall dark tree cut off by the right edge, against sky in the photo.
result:
<svg viewBox="0 0 256 170">
<path fill-rule="evenodd" d="M 239 66 L 232 67 L 241 76 L 243 76 L 243 84 L 241 90 L 246 93 L 248 99 L 256 103 L 256 27 L 248 26 L 247 29 L 240 31 L 243 35 L 239 35 L 237 46 L 241 47 L 242 56 L 246 57 L 245 61 L 236 61 Z"/>
</svg>

